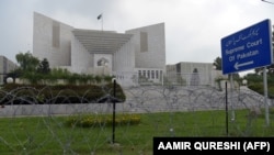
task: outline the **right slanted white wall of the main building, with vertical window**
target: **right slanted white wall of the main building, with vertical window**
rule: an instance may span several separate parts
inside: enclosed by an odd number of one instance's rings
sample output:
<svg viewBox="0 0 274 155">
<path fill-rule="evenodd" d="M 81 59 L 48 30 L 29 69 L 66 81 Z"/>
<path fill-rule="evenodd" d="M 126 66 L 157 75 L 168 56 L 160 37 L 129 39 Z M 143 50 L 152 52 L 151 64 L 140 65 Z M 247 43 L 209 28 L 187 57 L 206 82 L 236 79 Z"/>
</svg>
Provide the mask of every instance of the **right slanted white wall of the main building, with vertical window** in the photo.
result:
<svg viewBox="0 0 274 155">
<path fill-rule="evenodd" d="M 165 37 L 164 23 L 133 29 L 126 33 L 134 34 L 135 67 L 136 68 L 165 68 Z M 140 35 L 147 34 L 147 38 Z M 147 40 L 147 51 L 141 51 L 141 40 Z M 146 48 L 146 47 L 142 47 Z"/>
</svg>

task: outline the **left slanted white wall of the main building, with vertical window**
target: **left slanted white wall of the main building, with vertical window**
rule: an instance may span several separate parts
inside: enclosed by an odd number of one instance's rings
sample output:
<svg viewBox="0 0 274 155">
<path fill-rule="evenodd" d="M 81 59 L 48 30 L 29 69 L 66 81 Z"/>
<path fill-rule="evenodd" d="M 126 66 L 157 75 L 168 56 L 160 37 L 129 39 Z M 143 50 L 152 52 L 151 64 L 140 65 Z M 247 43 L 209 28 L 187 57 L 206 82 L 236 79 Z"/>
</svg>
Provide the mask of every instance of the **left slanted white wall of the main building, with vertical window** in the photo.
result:
<svg viewBox="0 0 274 155">
<path fill-rule="evenodd" d="M 50 67 L 70 66 L 72 29 L 72 26 L 34 12 L 33 55 L 39 59 L 47 58 Z M 53 40 L 56 42 L 54 43 Z"/>
</svg>

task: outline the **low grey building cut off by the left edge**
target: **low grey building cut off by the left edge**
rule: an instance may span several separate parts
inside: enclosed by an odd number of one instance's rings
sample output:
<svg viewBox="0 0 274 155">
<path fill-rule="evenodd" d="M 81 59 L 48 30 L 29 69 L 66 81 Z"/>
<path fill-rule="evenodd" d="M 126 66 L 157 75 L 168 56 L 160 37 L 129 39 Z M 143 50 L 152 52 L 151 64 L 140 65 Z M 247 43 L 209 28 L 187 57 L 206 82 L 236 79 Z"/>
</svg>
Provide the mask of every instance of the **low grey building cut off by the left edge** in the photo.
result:
<svg viewBox="0 0 274 155">
<path fill-rule="evenodd" d="M 4 84 L 7 74 L 14 70 L 16 67 L 18 65 L 15 63 L 0 55 L 0 85 Z"/>
</svg>

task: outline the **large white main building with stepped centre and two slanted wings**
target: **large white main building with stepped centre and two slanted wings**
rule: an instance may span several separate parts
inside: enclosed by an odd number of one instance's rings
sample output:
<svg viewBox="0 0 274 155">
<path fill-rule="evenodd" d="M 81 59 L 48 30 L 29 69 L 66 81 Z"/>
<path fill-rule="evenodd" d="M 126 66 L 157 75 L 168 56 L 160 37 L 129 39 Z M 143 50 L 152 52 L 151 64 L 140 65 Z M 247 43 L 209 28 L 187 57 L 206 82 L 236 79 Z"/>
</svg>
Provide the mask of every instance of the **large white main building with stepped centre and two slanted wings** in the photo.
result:
<svg viewBox="0 0 274 155">
<path fill-rule="evenodd" d="M 161 84 L 165 73 L 164 23 L 128 30 L 82 30 L 34 12 L 33 55 L 50 68 L 113 75 L 122 86 Z"/>
</svg>

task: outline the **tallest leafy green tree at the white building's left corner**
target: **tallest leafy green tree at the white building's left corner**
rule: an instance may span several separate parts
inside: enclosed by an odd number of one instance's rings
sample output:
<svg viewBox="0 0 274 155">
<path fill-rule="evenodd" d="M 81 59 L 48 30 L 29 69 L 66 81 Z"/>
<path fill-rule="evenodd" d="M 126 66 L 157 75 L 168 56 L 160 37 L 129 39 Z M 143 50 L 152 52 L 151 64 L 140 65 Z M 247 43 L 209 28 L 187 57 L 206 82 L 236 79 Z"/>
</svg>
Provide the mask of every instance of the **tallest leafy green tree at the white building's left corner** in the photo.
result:
<svg viewBox="0 0 274 155">
<path fill-rule="evenodd" d="M 39 59 L 34 57 L 30 51 L 27 51 L 25 54 L 16 54 L 15 58 L 23 71 L 35 71 L 39 64 Z"/>
</svg>

